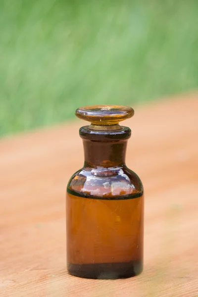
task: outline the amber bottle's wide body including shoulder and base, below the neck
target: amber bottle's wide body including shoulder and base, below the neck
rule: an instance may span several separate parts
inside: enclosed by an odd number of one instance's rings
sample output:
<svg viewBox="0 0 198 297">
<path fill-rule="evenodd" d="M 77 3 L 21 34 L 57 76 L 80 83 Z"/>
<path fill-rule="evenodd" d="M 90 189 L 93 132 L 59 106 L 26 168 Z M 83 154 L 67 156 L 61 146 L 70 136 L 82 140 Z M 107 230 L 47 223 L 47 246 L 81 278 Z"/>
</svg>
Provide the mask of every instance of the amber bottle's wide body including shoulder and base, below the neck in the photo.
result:
<svg viewBox="0 0 198 297">
<path fill-rule="evenodd" d="M 68 184 L 66 211 L 69 273 L 112 279 L 142 272 L 144 195 L 134 172 L 81 169 Z"/>
</svg>

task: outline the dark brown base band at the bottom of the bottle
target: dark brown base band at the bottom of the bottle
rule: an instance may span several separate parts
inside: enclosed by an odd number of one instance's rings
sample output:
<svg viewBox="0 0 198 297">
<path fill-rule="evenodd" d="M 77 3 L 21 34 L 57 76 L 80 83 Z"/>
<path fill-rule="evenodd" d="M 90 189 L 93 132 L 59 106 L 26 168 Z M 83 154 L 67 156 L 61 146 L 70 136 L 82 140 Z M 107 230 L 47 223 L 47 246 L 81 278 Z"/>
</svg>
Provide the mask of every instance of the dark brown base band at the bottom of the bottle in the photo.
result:
<svg viewBox="0 0 198 297">
<path fill-rule="evenodd" d="M 73 264 L 67 263 L 70 274 L 91 279 L 119 279 L 139 275 L 143 271 L 142 261 L 120 263 L 92 263 Z"/>
</svg>

